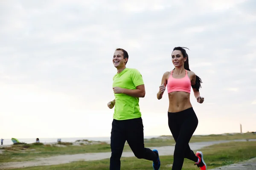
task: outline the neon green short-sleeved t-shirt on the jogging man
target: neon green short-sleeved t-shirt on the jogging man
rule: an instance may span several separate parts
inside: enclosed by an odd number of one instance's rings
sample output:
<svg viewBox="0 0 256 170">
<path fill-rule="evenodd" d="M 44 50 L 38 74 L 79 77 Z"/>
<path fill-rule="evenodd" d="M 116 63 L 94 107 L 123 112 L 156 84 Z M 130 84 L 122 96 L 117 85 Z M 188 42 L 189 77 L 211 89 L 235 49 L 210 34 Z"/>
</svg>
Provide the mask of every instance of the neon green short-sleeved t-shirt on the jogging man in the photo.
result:
<svg viewBox="0 0 256 170">
<path fill-rule="evenodd" d="M 135 68 L 125 68 L 113 77 L 113 87 L 136 89 L 138 85 L 144 85 L 144 82 L 142 75 Z M 115 94 L 115 99 L 113 119 L 127 120 L 141 117 L 139 97 Z"/>
</svg>

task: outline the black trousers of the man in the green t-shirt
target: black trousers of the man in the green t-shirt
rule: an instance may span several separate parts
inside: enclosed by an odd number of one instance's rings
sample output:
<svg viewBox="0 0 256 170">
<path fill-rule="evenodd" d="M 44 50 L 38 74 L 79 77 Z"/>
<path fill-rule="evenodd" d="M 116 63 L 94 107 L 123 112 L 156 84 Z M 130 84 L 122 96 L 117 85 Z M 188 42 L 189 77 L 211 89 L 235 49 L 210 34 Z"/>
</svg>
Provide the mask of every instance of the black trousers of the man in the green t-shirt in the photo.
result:
<svg viewBox="0 0 256 170">
<path fill-rule="evenodd" d="M 141 118 L 128 120 L 113 119 L 110 170 L 120 170 L 120 158 L 126 140 L 137 158 L 157 161 L 156 153 L 144 147 L 143 122 Z"/>
</svg>

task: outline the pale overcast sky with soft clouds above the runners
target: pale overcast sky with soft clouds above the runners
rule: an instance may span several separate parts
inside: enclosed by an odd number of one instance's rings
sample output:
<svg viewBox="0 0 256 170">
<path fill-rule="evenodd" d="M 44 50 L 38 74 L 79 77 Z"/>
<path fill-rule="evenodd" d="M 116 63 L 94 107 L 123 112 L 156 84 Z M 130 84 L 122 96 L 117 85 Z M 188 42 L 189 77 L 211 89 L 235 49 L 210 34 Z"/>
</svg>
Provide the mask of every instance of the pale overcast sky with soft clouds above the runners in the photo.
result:
<svg viewBox="0 0 256 170">
<path fill-rule="evenodd" d="M 0 1 L 0 138 L 110 136 L 116 48 L 145 82 L 145 136 L 170 135 L 157 100 L 172 49 L 189 48 L 205 102 L 194 134 L 256 131 L 255 0 Z"/>
</svg>

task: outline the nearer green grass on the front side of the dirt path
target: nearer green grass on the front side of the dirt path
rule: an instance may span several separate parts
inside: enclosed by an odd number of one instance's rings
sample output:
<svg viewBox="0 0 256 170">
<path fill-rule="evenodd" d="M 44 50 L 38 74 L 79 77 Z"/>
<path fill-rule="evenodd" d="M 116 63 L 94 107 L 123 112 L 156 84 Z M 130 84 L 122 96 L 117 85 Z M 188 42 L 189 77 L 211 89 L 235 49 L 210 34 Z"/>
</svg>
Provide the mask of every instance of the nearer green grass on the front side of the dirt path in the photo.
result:
<svg viewBox="0 0 256 170">
<path fill-rule="evenodd" d="M 229 142 L 215 144 L 201 149 L 207 169 L 233 164 L 256 156 L 256 142 Z M 172 166 L 173 156 L 160 156 L 161 170 L 169 170 Z M 121 158 L 121 169 L 124 170 L 151 170 L 152 162 L 144 159 Z M 77 161 L 70 164 L 53 166 L 29 167 L 15 170 L 108 170 L 109 159 L 99 161 Z M 185 159 L 183 170 L 198 170 L 194 162 Z"/>
</svg>

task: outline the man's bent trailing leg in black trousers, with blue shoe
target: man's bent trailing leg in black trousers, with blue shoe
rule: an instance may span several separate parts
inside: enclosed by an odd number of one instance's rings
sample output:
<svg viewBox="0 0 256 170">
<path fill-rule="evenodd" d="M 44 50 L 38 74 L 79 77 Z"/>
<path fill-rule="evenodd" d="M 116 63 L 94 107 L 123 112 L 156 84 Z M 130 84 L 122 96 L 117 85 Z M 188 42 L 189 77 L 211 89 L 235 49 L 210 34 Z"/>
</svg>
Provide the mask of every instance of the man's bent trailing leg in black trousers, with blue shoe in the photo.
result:
<svg viewBox="0 0 256 170">
<path fill-rule="evenodd" d="M 155 170 L 160 168 L 160 159 L 157 150 L 152 151 L 144 146 L 143 122 L 141 118 L 126 121 L 126 139 L 138 159 L 153 161 Z"/>
</svg>

